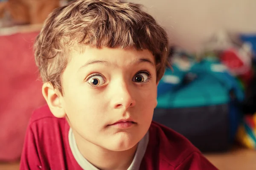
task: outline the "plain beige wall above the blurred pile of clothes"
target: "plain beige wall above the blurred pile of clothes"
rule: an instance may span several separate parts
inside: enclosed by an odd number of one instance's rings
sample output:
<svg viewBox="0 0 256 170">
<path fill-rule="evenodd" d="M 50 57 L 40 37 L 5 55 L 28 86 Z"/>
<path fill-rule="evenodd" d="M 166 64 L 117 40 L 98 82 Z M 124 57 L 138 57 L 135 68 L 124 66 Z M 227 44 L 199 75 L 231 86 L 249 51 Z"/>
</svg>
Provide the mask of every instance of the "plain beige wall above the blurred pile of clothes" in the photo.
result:
<svg viewBox="0 0 256 170">
<path fill-rule="evenodd" d="M 127 0 L 141 3 L 171 42 L 198 49 L 214 32 L 256 33 L 256 0 Z"/>
</svg>

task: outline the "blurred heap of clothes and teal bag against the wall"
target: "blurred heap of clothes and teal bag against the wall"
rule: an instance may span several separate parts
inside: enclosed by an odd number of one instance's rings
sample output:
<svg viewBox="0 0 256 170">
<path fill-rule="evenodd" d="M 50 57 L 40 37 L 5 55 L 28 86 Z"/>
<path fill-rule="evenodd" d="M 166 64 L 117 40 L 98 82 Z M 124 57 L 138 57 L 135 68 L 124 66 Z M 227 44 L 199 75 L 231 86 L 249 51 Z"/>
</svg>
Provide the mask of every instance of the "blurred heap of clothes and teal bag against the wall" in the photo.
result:
<svg viewBox="0 0 256 170">
<path fill-rule="evenodd" d="M 244 116 L 256 112 L 255 41 L 256 35 L 234 40 L 220 32 L 197 54 L 173 47 L 172 68 L 159 82 L 153 119 L 202 152 L 229 150 L 247 134 L 240 130 Z"/>
</svg>

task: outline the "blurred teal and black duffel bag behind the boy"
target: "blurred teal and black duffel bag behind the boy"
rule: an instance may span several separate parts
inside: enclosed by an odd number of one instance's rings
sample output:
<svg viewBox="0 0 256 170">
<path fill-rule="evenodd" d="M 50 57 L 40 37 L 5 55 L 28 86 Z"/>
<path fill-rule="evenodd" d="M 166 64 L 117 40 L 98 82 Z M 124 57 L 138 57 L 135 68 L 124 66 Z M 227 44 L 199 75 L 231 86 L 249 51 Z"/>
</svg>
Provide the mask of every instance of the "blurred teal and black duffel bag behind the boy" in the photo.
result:
<svg viewBox="0 0 256 170">
<path fill-rule="evenodd" d="M 186 136 L 201 151 L 227 150 L 240 121 L 244 93 L 217 60 L 167 69 L 158 85 L 153 120 Z"/>
</svg>

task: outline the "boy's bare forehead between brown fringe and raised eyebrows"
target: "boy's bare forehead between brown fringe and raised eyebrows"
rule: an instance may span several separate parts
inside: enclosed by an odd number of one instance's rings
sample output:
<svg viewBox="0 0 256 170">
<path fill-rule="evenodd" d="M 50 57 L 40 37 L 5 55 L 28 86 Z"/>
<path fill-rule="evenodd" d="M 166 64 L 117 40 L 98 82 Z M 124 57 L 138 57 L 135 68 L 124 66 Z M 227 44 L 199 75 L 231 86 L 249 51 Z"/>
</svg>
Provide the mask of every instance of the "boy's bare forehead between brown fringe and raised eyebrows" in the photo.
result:
<svg viewBox="0 0 256 170">
<path fill-rule="evenodd" d="M 111 65 L 116 67 L 131 66 L 136 64 L 138 60 L 146 61 L 155 65 L 155 59 L 149 50 L 137 51 L 132 48 L 94 48 L 90 46 L 86 47 L 75 47 L 70 51 L 70 62 L 68 66 L 79 67 L 93 62 L 93 61 L 104 61 L 105 65 Z M 149 63 L 148 62 L 148 63 Z M 103 62 L 101 62 L 103 63 Z"/>
</svg>

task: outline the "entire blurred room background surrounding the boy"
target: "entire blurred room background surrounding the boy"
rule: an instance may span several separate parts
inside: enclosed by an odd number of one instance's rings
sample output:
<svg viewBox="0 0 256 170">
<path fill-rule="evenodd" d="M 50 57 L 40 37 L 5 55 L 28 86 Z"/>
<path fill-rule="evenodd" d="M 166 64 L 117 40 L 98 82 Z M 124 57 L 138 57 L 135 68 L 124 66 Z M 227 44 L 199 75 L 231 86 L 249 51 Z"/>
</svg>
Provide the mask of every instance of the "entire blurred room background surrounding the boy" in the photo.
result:
<svg viewBox="0 0 256 170">
<path fill-rule="evenodd" d="M 221 170 L 256 169 L 256 0 L 141 3 L 170 40 L 172 68 L 153 119 L 186 136 Z M 32 111 L 44 105 L 32 45 L 67 0 L 0 0 L 0 170 L 18 170 Z"/>
</svg>

